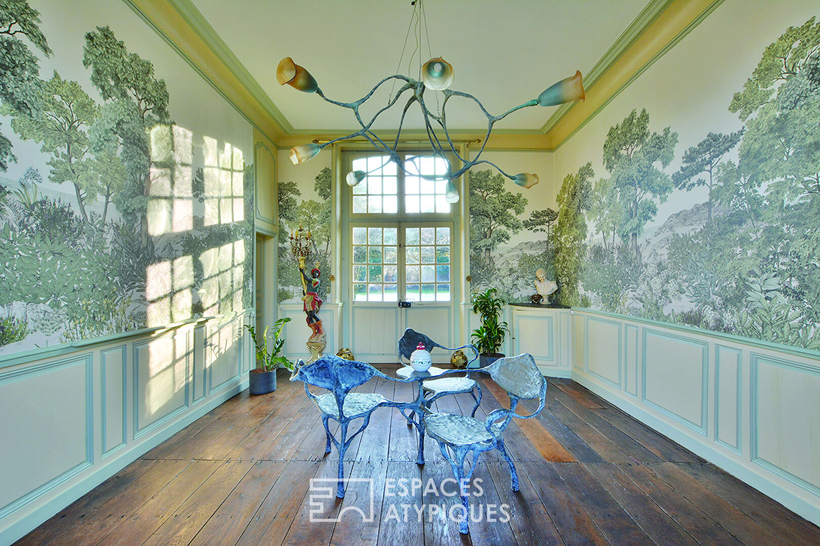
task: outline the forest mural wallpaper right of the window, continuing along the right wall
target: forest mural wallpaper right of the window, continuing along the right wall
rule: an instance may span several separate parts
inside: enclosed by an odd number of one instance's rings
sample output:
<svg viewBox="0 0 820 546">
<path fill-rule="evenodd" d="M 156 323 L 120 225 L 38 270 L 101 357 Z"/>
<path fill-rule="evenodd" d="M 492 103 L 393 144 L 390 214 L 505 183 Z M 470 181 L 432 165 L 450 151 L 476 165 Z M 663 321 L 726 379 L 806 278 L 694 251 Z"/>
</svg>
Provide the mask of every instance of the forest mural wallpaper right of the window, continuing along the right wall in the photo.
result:
<svg viewBox="0 0 820 546">
<path fill-rule="evenodd" d="M 820 23 L 772 38 L 727 91 L 740 130 L 679 142 L 637 106 L 606 133 L 604 171 L 581 165 L 528 219 L 500 176 L 472 175 L 473 278 L 522 301 L 547 263 L 567 305 L 820 350 Z M 646 231 L 667 200 L 678 211 Z M 538 252 L 494 259 L 522 229 L 544 232 Z"/>
</svg>

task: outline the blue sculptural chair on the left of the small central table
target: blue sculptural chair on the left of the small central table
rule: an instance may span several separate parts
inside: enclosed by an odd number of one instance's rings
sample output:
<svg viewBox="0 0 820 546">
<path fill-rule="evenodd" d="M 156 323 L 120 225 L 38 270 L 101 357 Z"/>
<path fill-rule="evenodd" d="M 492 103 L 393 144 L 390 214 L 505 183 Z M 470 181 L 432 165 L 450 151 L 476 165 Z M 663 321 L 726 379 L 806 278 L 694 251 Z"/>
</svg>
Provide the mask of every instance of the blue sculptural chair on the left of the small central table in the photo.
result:
<svg viewBox="0 0 820 546">
<path fill-rule="evenodd" d="M 299 359 L 290 376 L 290 381 L 303 381 L 307 396 L 316 402 L 321 411 L 321 422 L 325 425 L 327 434 L 325 453 L 330 453 L 331 442 L 339 452 L 339 484 L 336 487 L 336 496 L 339 499 L 344 498 L 344 453 L 348 450 L 350 443 L 370 424 L 373 410 L 381 406 L 396 405 L 382 395 L 350 392 L 367 383 L 372 377 L 396 381 L 394 377 L 386 376 L 368 363 L 340 359 L 335 354 L 328 354 L 309 364 Z M 309 385 L 318 386 L 330 392 L 314 395 L 307 388 Z M 358 431 L 348 435 L 350 422 L 359 418 L 363 419 L 362 425 Z M 330 434 L 328 426 L 330 419 L 339 422 L 339 438 Z"/>
</svg>

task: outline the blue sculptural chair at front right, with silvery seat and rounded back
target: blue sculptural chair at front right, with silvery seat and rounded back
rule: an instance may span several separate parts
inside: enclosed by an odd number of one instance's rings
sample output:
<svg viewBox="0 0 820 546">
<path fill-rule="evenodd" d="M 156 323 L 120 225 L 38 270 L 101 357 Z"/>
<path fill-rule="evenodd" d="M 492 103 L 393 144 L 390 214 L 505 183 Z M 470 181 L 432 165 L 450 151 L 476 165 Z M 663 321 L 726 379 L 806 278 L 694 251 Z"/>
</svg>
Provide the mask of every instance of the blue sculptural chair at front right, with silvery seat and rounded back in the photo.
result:
<svg viewBox="0 0 820 546">
<path fill-rule="evenodd" d="M 507 428 L 512 417 L 518 419 L 531 419 L 544 409 L 544 400 L 547 395 L 547 381 L 541 375 L 535 360 L 531 354 L 519 354 L 518 356 L 496 360 L 490 366 L 484 368 L 490 373 L 493 381 L 503 390 L 507 391 L 510 399 L 510 408 L 494 409 L 490 412 L 484 422 L 466 415 L 451 415 L 449 413 L 426 413 L 424 422 L 427 435 L 439 443 L 441 454 L 444 455 L 453 473 L 461 484 L 462 480 L 469 481 L 473 471 L 476 470 L 478 457 L 490 449 L 498 449 L 507 461 L 512 476 L 512 490 L 518 490 L 518 474 L 515 465 L 504 448 L 503 431 Z M 539 399 L 538 409 L 530 415 L 520 415 L 516 413 L 519 399 Z M 429 412 L 429 410 L 427 410 Z M 472 463 L 467 462 L 465 469 L 465 459 L 467 453 L 472 451 Z M 462 490 L 462 493 L 465 491 Z M 462 533 L 470 532 L 467 526 L 467 495 L 462 495 L 462 507 L 464 508 L 464 518 L 459 524 Z"/>
</svg>

